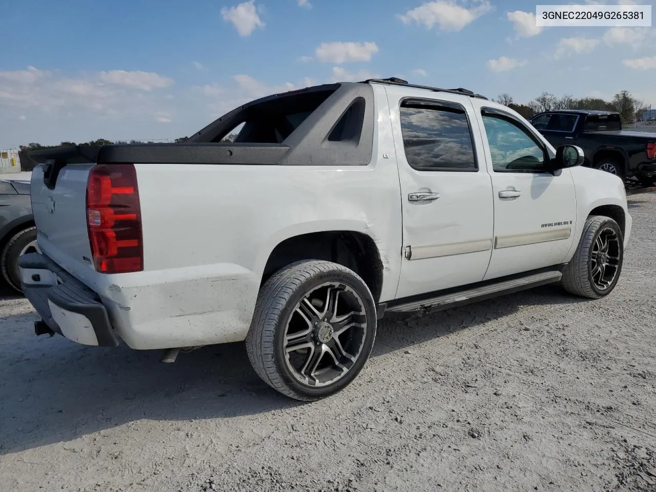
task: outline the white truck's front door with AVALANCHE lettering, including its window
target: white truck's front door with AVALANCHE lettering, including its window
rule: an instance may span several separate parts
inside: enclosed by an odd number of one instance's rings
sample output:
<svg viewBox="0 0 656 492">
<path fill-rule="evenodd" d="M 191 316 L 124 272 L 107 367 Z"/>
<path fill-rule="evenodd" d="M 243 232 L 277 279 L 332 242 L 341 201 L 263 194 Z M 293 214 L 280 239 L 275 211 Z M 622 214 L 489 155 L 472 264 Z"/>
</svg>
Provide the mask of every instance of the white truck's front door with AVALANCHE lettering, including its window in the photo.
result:
<svg viewBox="0 0 656 492">
<path fill-rule="evenodd" d="M 482 121 L 494 196 L 494 248 L 485 279 L 560 264 L 575 240 L 569 169 L 546 169 L 548 150 L 520 119 L 473 100 Z"/>
</svg>

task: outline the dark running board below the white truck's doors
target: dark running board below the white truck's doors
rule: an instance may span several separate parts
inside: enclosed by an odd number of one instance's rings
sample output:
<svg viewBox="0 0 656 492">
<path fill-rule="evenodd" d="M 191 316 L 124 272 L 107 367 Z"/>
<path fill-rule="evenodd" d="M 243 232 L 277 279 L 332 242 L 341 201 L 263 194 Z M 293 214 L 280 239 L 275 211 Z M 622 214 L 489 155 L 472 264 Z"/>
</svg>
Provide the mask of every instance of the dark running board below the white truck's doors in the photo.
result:
<svg viewBox="0 0 656 492">
<path fill-rule="evenodd" d="M 550 272 L 541 272 L 526 277 L 516 278 L 512 280 L 504 280 L 498 283 L 491 283 L 482 287 L 474 287 L 464 291 L 444 294 L 437 297 L 431 297 L 423 300 L 407 302 L 406 304 L 398 304 L 397 306 L 386 307 L 386 312 L 415 312 L 415 311 L 434 311 L 444 310 L 460 306 L 461 304 L 468 304 L 469 302 L 476 302 L 485 300 L 499 295 L 510 294 L 513 292 L 523 291 L 525 289 L 532 289 L 547 283 L 557 282 L 561 279 L 563 274 L 558 270 Z"/>
</svg>

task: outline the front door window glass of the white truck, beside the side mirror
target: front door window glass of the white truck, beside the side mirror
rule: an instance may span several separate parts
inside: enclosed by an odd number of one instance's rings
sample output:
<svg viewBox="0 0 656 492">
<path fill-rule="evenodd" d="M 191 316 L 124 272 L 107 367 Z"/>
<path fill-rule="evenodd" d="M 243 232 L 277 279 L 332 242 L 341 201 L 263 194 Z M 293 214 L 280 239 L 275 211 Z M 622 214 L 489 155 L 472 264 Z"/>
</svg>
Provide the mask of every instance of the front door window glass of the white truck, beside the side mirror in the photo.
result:
<svg viewBox="0 0 656 492">
<path fill-rule="evenodd" d="M 537 173 L 545 170 L 542 148 L 517 123 L 483 115 L 492 168 L 497 173 Z"/>
</svg>

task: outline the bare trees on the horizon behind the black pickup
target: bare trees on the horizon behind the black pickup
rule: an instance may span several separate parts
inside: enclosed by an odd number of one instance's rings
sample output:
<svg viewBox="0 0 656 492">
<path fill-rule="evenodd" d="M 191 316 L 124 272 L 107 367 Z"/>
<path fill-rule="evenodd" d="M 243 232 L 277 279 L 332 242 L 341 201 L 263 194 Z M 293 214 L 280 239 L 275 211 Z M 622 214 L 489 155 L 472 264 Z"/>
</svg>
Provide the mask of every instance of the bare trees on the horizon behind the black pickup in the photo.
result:
<svg viewBox="0 0 656 492">
<path fill-rule="evenodd" d="M 543 92 L 528 104 L 518 104 L 510 94 L 505 92 L 493 100 L 508 106 L 527 119 L 544 111 L 598 110 L 617 112 L 620 114 L 622 123 L 626 123 L 641 118 L 642 114 L 650 108 L 646 102 L 635 98 L 629 91 L 617 92 L 610 101 L 594 97 L 575 98 L 569 94 L 558 97 L 550 92 Z"/>
</svg>

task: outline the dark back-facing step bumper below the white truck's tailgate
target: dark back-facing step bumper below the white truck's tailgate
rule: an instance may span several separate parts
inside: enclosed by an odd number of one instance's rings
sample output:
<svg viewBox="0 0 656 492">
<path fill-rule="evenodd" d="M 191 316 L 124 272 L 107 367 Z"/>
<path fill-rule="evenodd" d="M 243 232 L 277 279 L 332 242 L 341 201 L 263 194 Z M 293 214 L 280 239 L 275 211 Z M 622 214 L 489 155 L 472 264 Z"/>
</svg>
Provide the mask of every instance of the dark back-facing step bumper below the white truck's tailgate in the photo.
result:
<svg viewBox="0 0 656 492">
<path fill-rule="evenodd" d="M 21 256 L 18 266 L 25 296 L 52 331 L 80 344 L 118 345 L 108 312 L 89 287 L 39 253 Z"/>
</svg>

